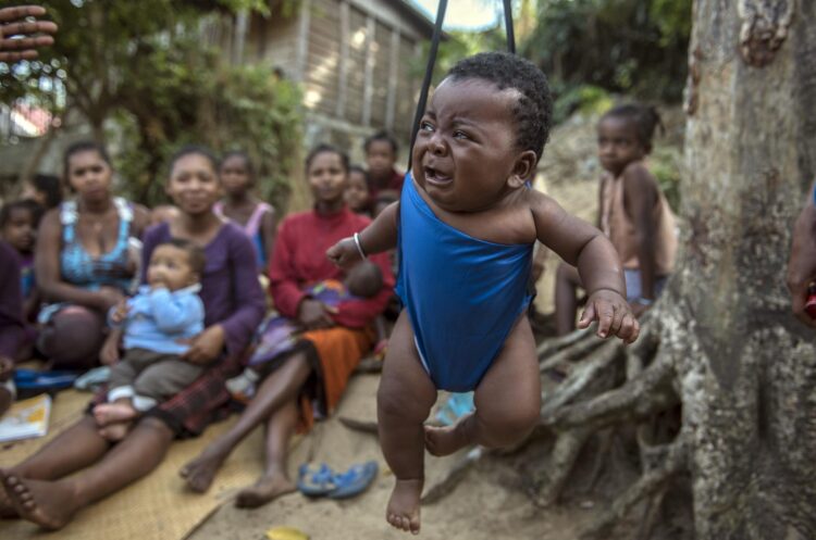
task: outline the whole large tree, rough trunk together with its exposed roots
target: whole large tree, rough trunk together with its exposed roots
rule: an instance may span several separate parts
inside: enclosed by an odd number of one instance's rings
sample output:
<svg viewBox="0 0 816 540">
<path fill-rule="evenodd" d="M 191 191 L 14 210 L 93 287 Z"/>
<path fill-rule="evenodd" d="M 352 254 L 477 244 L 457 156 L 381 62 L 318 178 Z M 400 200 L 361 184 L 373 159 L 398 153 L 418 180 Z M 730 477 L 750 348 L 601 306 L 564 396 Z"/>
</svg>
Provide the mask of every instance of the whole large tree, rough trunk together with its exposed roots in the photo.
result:
<svg viewBox="0 0 816 540">
<path fill-rule="evenodd" d="M 567 455 L 542 466 L 540 502 L 566 484 L 583 444 L 570 441 L 641 423 L 642 476 L 584 537 L 644 499 L 653 522 L 652 503 L 688 470 L 696 539 L 816 538 L 816 336 L 784 287 L 816 175 L 813 21 L 813 0 L 696 0 L 678 268 L 633 347 L 616 355 L 576 336 L 540 349 L 542 371 L 568 368 L 544 395 L 542 425 Z M 603 384 L 614 369 L 623 382 Z M 678 400 L 679 434 L 652 445 L 643 423 Z"/>
</svg>

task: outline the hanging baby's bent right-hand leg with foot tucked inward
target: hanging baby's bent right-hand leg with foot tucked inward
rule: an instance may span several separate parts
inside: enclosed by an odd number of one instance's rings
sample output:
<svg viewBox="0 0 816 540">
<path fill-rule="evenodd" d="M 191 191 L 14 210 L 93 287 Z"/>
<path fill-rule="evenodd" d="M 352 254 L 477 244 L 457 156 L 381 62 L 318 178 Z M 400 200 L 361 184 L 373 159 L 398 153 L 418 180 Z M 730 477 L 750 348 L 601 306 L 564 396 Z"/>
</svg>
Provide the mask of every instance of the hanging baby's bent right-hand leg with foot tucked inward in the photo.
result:
<svg viewBox="0 0 816 540">
<path fill-rule="evenodd" d="M 447 455 L 470 444 L 509 447 L 535 427 L 541 411 L 541 380 L 535 340 L 522 315 L 502 352 L 482 378 L 473 401 L 475 412 L 453 427 L 425 427 L 425 444 L 434 455 Z"/>
</svg>

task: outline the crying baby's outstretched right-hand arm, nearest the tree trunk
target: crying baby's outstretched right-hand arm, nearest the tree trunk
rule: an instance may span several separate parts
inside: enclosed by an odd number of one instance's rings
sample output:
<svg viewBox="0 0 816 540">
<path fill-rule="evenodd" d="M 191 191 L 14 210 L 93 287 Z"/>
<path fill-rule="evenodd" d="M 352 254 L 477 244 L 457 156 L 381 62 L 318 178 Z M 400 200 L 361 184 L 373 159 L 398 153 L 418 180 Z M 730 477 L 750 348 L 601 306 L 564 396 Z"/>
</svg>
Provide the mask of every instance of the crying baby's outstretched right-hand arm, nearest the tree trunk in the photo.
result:
<svg viewBox="0 0 816 540">
<path fill-rule="evenodd" d="M 578 322 L 586 328 L 597 319 L 597 335 L 618 336 L 627 342 L 638 339 L 640 327 L 626 301 L 626 281 L 618 253 L 595 227 L 568 214 L 549 197 L 531 192 L 531 205 L 539 240 L 578 267 L 586 292 L 586 307 Z"/>
</svg>

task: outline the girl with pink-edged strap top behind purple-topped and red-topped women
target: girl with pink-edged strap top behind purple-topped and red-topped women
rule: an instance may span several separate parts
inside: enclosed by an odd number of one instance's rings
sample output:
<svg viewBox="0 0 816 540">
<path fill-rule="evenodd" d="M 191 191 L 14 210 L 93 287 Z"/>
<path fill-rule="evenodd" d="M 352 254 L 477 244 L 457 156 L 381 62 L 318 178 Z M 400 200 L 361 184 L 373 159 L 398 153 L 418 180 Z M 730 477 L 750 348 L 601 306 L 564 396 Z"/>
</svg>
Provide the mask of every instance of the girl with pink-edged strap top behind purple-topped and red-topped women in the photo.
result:
<svg viewBox="0 0 816 540">
<path fill-rule="evenodd" d="M 252 240 L 258 259 L 258 272 L 267 273 L 275 246 L 275 211 L 251 193 L 255 167 L 244 152 L 228 152 L 221 163 L 221 183 L 226 198 L 215 203 L 214 211 L 244 227 Z"/>
</svg>

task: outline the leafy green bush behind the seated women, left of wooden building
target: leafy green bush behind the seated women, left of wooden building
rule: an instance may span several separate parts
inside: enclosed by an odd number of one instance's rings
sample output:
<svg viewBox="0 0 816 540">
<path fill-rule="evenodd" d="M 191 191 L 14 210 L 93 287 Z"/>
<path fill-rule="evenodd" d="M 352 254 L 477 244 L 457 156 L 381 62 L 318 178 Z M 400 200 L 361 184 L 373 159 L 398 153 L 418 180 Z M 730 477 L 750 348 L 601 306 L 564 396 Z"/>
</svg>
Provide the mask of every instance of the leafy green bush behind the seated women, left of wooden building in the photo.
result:
<svg viewBox="0 0 816 540">
<path fill-rule="evenodd" d="M 195 40 L 144 61 L 157 73 L 136 84 L 138 106 L 119 116 L 126 134 L 118 165 L 133 196 L 160 201 L 169 158 L 181 146 L 203 143 L 219 153 L 246 151 L 260 196 L 285 208 L 301 140 L 297 86 L 262 66 L 228 65 Z"/>
</svg>

